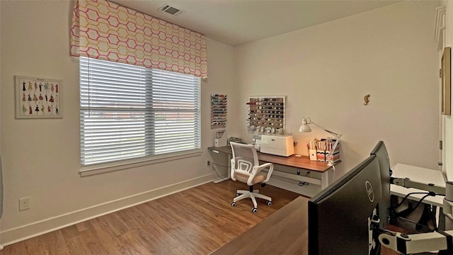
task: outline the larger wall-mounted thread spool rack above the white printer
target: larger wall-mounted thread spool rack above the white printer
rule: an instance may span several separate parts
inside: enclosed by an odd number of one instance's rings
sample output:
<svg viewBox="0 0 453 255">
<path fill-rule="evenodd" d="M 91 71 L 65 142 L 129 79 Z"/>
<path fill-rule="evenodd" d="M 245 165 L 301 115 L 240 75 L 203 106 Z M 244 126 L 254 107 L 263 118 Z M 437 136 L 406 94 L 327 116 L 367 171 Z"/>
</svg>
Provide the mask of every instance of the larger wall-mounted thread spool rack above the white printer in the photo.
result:
<svg viewBox="0 0 453 255">
<path fill-rule="evenodd" d="M 248 98 L 248 131 L 282 135 L 285 133 L 285 96 Z"/>
</svg>

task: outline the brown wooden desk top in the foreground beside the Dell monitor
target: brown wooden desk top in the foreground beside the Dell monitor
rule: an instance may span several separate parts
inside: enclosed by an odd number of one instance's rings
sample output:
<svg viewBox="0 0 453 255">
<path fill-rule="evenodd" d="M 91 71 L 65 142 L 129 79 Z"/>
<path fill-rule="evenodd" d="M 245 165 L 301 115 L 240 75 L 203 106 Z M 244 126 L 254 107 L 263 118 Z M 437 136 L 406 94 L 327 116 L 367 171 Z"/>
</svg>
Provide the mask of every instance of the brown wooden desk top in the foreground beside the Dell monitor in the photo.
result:
<svg viewBox="0 0 453 255">
<path fill-rule="evenodd" d="M 222 254 L 308 254 L 308 198 L 299 197 L 212 251 Z"/>
</svg>

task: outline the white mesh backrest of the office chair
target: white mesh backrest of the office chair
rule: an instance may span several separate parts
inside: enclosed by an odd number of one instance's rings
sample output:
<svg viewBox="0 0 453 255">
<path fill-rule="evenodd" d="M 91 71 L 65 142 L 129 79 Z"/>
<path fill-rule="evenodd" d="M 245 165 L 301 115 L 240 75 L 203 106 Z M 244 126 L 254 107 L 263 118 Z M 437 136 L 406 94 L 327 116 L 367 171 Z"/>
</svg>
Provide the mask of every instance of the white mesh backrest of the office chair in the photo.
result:
<svg viewBox="0 0 453 255">
<path fill-rule="evenodd" d="M 234 160 L 234 165 L 231 164 L 231 167 L 234 166 L 235 170 L 240 169 L 251 173 L 253 166 L 259 166 L 258 154 L 254 145 L 244 145 L 237 142 L 230 142 L 230 145 L 233 152 L 231 161 Z"/>
</svg>

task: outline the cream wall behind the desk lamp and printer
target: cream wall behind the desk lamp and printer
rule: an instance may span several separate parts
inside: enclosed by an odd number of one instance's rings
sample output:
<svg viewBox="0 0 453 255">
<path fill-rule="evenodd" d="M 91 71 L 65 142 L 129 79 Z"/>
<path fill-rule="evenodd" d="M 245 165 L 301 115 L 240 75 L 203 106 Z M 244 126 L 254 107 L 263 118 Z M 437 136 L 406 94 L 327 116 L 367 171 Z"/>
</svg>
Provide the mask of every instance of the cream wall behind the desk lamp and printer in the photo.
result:
<svg viewBox="0 0 453 255">
<path fill-rule="evenodd" d="M 292 33 L 235 47 L 240 113 L 246 131 L 248 96 L 287 96 L 287 131 L 308 154 L 298 133 L 302 117 L 343 132 L 339 174 L 365 159 L 379 140 L 391 164 L 437 169 L 437 1 L 404 1 Z M 370 94 L 369 105 L 363 97 Z"/>
</svg>

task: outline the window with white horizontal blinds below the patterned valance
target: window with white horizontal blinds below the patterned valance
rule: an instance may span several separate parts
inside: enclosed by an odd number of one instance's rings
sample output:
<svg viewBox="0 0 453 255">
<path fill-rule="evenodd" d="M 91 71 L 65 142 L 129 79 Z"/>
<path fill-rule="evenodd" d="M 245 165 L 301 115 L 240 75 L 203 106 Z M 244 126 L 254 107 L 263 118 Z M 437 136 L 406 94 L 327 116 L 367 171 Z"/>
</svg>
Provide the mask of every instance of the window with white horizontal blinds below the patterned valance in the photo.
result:
<svg viewBox="0 0 453 255">
<path fill-rule="evenodd" d="M 80 125 L 81 166 L 200 149 L 200 78 L 80 57 Z"/>
</svg>

